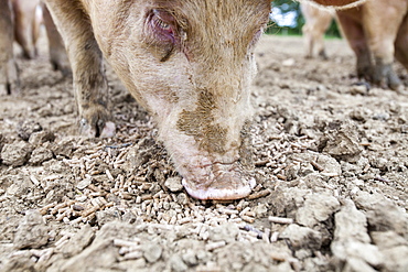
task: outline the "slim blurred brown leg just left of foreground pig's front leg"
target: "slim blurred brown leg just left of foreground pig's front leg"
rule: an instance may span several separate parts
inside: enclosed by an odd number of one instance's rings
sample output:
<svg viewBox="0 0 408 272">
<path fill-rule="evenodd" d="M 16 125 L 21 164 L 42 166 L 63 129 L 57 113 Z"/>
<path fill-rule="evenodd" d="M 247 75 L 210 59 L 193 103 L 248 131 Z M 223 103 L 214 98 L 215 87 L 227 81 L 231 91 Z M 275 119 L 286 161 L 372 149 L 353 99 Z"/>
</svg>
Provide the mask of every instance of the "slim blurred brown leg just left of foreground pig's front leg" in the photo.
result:
<svg viewBox="0 0 408 272">
<path fill-rule="evenodd" d="M 61 70 L 64 76 L 71 76 L 72 70 L 63 39 L 61 37 L 46 6 L 42 4 L 41 7 L 43 10 L 46 36 L 49 37 L 50 62 L 54 70 Z"/>
</svg>

